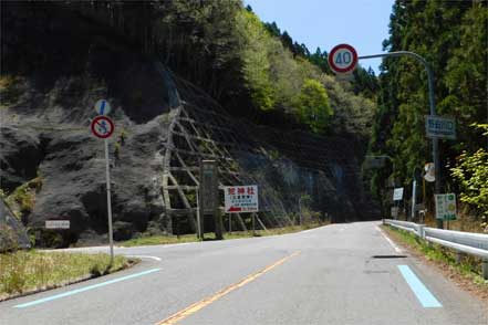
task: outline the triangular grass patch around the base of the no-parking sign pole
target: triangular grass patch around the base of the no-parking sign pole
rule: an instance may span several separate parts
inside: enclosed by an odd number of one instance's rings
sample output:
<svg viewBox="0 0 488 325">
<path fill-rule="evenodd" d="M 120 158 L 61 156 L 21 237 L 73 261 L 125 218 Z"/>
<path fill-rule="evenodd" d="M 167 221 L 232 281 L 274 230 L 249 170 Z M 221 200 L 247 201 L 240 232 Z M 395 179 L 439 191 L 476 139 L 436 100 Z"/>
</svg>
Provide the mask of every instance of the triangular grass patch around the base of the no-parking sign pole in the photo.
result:
<svg viewBox="0 0 488 325">
<path fill-rule="evenodd" d="M 107 254 L 14 251 L 0 254 L 0 301 L 123 270 L 135 260 Z"/>
</svg>

